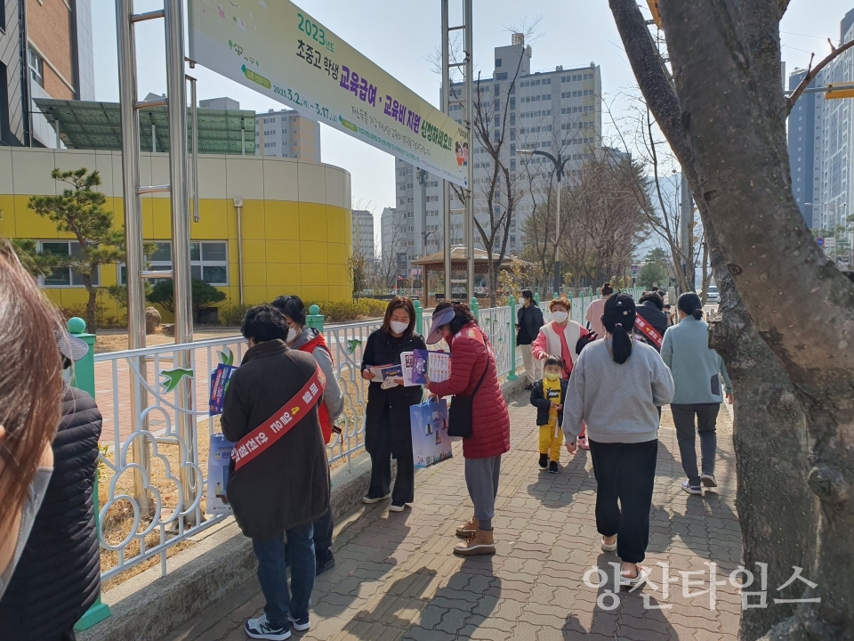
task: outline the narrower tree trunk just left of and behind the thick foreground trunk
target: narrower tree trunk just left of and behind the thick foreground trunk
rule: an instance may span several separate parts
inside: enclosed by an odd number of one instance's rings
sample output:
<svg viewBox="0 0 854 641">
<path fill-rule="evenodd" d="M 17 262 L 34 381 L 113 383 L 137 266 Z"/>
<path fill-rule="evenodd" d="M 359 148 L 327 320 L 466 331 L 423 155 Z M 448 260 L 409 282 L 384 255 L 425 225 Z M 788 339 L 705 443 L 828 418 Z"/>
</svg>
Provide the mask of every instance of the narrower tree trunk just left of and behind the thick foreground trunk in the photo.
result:
<svg viewBox="0 0 854 641">
<path fill-rule="evenodd" d="M 643 16 L 632 0 L 610 0 L 610 6 L 649 109 L 679 158 L 691 191 L 700 196 L 677 97 Z M 726 362 L 737 402 L 734 446 L 745 563 L 769 564 L 769 586 L 776 588 L 789 578 L 791 566 L 809 567 L 814 554 L 816 501 L 807 484 L 804 413 L 782 363 L 753 328 L 733 287 L 707 203 L 697 198 L 697 207 L 721 290 L 713 346 Z M 771 598 L 793 598 L 796 590 L 793 586 L 789 595 Z M 746 610 L 741 636 L 752 640 L 790 613 L 791 608 L 780 604 Z"/>
</svg>

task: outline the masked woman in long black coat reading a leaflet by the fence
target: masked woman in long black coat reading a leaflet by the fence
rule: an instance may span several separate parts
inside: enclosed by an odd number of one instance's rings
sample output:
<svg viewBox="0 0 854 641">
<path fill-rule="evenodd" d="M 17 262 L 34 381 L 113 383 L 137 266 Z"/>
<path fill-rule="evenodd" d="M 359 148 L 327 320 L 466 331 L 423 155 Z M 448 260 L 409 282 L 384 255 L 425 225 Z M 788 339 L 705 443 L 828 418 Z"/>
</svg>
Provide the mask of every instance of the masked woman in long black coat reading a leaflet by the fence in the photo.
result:
<svg viewBox="0 0 854 641">
<path fill-rule="evenodd" d="M 412 458 L 412 432 L 409 406 L 421 402 L 421 385 L 388 386 L 374 381 L 370 368 L 399 365 L 400 354 L 427 349 L 423 337 L 415 334 L 415 307 L 406 296 L 395 296 L 385 310 L 383 327 L 367 337 L 362 353 L 362 377 L 371 381 L 367 388 L 365 410 L 365 448 L 371 455 L 371 486 L 363 503 L 376 503 L 391 496 L 392 512 L 402 512 L 415 500 L 415 465 Z M 398 461 L 398 477 L 391 486 L 391 458 Z"/>
</svg>

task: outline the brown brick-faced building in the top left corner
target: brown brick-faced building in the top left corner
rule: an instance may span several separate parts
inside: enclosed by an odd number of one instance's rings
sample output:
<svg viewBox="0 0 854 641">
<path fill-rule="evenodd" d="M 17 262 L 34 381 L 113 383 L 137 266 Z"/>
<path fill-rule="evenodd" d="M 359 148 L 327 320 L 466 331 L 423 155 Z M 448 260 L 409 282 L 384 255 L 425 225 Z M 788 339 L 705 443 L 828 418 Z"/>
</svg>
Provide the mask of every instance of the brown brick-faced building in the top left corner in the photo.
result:
<svg viewBox="0 0 854 641">
<path fill-rule="evenodd" d="M 0 144 L 56 147 L 36 98 L 95 99 L 91 0 L 4 0 Z"/>
</svg>

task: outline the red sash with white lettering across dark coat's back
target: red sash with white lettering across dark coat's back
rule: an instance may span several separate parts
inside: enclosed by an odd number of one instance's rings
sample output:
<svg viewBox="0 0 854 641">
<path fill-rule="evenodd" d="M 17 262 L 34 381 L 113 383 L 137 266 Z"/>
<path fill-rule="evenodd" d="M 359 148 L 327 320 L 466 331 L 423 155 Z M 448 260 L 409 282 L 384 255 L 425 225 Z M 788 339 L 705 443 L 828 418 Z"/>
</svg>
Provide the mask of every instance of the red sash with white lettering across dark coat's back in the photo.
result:
<svg viewBox="0 0 854 641">
<path fill-rule="evenodd" d="M 234 449 L 231 450 L 235 471 L 290 432 L 309 410 L 318 404 L 325 385 L 326 377 L 323 376 L 318 365 L 308 383 L 302 385 L 302 389 L 294 394 L 294 398 L 235 443 Z"/>
</svg>

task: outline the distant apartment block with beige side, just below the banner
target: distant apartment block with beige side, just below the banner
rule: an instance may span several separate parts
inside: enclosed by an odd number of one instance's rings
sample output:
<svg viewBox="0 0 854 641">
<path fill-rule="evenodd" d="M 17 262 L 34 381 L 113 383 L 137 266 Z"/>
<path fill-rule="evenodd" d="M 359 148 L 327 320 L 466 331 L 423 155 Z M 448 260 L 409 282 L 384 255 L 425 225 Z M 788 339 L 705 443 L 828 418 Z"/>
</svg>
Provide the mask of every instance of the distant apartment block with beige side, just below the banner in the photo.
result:
<svg viewBox="0 0 854 641">
<path fill-rule="evenodd" d="M 270 110 L 255 118 L 255 155 L 320 162 L 320 125 L 297 110 Z"/>
</svg>

